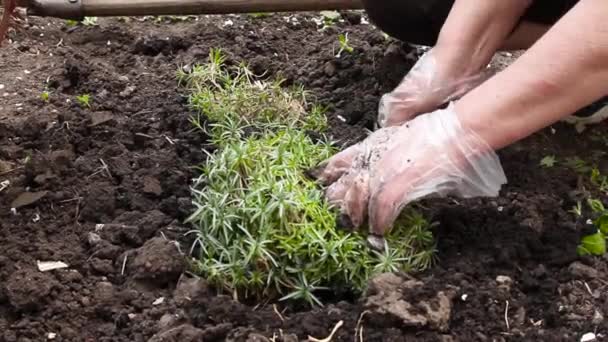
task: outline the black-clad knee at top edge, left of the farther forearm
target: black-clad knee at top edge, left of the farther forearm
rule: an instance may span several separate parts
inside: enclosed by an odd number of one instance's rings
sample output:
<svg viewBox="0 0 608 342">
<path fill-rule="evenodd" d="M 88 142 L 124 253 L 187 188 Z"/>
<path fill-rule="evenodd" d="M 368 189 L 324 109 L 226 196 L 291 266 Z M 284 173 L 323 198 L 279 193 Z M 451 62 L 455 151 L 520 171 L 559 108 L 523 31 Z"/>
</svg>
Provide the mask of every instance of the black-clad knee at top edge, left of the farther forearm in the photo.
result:
<svg viewBox="0 0 608 342">
<path fill-rule="evenodd" d="M 454 0 L 363 0 L 372 23 L 411 44 L 433 46 Z"/>
</svg>

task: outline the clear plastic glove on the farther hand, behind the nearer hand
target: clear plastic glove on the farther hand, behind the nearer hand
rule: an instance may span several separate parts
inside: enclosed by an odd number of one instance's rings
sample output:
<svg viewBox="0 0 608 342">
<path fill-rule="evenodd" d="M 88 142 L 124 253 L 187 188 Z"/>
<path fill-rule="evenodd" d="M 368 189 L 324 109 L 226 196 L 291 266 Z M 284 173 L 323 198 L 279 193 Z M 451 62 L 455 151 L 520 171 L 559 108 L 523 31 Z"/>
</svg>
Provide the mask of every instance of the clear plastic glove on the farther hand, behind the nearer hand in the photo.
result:
<svg viewBox="0 0 608 342">
<path fill-rule="evenodd" d="M 449 75 L 446 66 L 439 66 L 431 49 L 403 78 L 399 86 L 380 99 L 378 125 L 400 125 L 421 113 L 429 113 L 457 99 L 486 80 L 490 73 L 468 77 Z"/>
</svg>

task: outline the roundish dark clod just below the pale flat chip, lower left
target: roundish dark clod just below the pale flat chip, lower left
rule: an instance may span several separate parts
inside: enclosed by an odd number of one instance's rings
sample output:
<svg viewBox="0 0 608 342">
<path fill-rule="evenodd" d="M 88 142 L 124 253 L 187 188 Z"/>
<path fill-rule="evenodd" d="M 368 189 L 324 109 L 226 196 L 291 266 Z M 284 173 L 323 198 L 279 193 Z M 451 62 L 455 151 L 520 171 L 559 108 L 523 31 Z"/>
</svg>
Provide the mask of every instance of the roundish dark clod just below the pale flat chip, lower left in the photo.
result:
<svg viewBox="0 0 608 342">
<path fill-rule="evenodd" d="M 35 311 L 42 308 L 55 286 L 57 281 L 52 275 L 24 268 L 8 278 L 6 295 L 18 311 Z"/>
</svg>

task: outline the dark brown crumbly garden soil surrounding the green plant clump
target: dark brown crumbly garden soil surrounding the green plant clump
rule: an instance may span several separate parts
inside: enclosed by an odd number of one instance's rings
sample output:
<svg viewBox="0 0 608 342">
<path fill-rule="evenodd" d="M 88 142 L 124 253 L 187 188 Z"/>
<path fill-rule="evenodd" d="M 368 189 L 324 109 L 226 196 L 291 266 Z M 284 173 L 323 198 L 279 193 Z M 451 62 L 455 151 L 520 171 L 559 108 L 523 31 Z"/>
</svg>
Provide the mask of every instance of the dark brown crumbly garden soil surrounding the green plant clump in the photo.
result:
<svg viewBox="0 0 608 342">
<path fill-rule="evenodd" d="M 231 63 L 303 84 L 350 144 L 418 52 L 347 19 L 319 31 L 306 15 L 77 28 L 32 18 L 13 33 L 0 50 L 0 182 L 10 182 L 0 192 L 0 341 L 300 341 L 341 320 L 335 341 L 608 333 L 606 260 L 575 252 L 584 227 L 568 210 L 580 177 L 539 166 L 549 154 L 601 161 L 603 124 L 581 135 L 557 125 L 501 151 L 510 182 L 499 198 L 422 203 L 439 223 L 438 264 L 417 280 L 379 279 L 360 301 L 247 306 L 184 273 L 191 167 L 212 147 L 188 122 L 176 69 L 222 48 Z M 335 58 L 345 32 L 355 51 Z M 85 93 L 91 108 L 76 101 Z M 42 273 L 37 261 L 69 267 Z"/>
</svg>

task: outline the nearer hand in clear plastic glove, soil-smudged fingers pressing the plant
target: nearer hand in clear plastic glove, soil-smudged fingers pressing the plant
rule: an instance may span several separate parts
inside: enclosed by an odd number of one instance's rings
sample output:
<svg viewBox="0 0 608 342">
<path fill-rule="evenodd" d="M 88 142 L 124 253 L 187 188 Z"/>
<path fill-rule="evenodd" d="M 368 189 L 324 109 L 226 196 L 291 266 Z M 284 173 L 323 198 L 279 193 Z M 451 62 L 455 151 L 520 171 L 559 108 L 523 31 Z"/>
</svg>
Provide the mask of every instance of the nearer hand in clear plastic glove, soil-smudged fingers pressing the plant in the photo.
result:
<svg viewBox="0 0 608 342">
<path fill-rule="evenodd" d="M 329 186 L 326 197 L 340 208 L 342 225 L 369 219 L 375 249 L 384 247 L 406 204 L 429 195 L 497 196 L 506 183 L 498 156 L 461 125 L 452 105 L 379 129 L 310 174 Z"/>
</svg>

